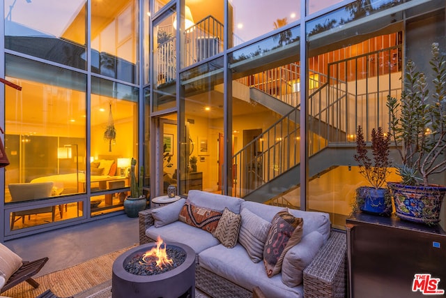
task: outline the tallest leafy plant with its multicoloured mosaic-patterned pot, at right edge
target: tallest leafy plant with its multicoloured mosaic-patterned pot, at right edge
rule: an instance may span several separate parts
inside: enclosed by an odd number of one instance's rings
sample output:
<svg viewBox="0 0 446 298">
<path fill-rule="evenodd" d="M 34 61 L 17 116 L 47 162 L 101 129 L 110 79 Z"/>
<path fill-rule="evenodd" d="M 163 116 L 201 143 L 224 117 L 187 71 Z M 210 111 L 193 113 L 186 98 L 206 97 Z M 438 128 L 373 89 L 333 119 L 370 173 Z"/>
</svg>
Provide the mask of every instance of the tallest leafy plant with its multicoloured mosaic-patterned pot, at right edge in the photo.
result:
<svg viewBox="0 0 446 298">
<path fill-rule="evenodd" d="M 432 85 L 408 61 L 401 102 L 387 96 L 390 134 L 401 156 L 401 182 L 389 183 L 396 214 L 419 223 L 438 223 L 446 188 L 429 183 L 432 174 L 446 170 L 446 59 L 438 43 L 429 61 Z"/>
</svg>

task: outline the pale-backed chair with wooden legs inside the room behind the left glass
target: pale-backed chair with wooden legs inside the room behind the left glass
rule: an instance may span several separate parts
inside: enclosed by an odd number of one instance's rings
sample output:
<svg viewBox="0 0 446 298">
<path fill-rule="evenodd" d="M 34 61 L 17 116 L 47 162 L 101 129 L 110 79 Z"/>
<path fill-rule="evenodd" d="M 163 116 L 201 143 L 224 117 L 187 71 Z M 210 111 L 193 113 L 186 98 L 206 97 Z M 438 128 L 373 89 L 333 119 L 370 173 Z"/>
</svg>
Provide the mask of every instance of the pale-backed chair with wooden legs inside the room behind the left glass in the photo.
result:
<svg viewBox="0 0 446 298">
<path fill-rule="evenodd" d="M 9 192 L 11 195 L 11 202 L 23 202 L 35 199 L 49 198 L 51 197 L 53 182 L 40 182 L 40 183 L 16 183 L 8 184 Z M 60 211 L 60 210 L 59 210 Z M 52 221 L 56 214 L 56 206 L 35 208 L 23 211 L 11 212 L 11 226 L 10 229 L 14 229 L 14 223 L 17 221 L 16 216 L 22 217 L 22 223 L 24 223 L 25 216 L 31 214 L 52 213 Z"/>
</svg>

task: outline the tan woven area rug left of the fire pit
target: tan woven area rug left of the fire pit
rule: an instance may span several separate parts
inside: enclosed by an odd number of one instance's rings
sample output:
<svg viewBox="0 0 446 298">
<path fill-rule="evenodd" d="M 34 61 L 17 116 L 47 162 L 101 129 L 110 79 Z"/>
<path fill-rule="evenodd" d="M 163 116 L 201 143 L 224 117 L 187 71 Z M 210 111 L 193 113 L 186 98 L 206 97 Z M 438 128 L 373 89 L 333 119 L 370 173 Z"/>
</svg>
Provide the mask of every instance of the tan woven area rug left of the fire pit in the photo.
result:
<svg viewBox="0 0 446 298">
<path fill-rule="evenodd" d="M 107 255 L 101 255 L 79 265 L 55 271 L 35 278 L 40 286 L 34 289 L 29 283 L 23 282 L 1 293 L 13 298 L 35 298 L 50 289 L 59 297 L 102 298 L 111 297 L 112 266 L 121 253 L 130 248 L 123 248 Z"/>
</svg>

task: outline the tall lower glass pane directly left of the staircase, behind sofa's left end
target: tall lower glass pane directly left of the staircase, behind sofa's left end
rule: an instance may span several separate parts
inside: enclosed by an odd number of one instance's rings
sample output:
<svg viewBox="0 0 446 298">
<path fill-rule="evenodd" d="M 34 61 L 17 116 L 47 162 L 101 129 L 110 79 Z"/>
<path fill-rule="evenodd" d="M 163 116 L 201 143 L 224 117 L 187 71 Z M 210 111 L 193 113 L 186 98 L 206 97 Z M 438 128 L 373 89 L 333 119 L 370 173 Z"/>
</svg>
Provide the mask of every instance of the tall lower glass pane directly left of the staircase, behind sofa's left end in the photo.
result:
<svg viewBox="0 0 446 298">
<path fill-rule="evenodd" d="M 178 182 L 180 193 L 192 189 L 221 191 L 224 150 L 223 59 L 181 73 Z"/>
</svg>

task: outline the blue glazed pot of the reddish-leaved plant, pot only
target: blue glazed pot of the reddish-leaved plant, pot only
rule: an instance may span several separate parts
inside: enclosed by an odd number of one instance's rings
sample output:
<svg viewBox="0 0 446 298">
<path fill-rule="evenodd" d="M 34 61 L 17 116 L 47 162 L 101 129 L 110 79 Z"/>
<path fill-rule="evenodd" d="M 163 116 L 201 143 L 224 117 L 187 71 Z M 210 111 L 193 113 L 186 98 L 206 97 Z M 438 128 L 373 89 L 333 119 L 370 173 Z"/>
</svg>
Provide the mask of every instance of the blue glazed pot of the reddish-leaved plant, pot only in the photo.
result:
<svg viewBox="0 0 446 298">
<path fill-rule="evenodd" d="M 361 186 L 357 188 L 357 202 L 361 211 L 370 214 L 390 216 L 392 214 L 392 203 L 385 201 L 386 188 L 373 188 Z M 390 200 L 389 200 L 390 201 Z"/>
</svg>

